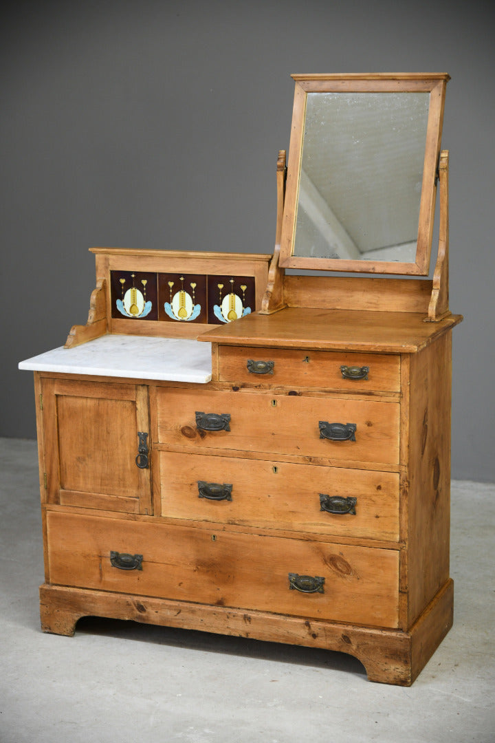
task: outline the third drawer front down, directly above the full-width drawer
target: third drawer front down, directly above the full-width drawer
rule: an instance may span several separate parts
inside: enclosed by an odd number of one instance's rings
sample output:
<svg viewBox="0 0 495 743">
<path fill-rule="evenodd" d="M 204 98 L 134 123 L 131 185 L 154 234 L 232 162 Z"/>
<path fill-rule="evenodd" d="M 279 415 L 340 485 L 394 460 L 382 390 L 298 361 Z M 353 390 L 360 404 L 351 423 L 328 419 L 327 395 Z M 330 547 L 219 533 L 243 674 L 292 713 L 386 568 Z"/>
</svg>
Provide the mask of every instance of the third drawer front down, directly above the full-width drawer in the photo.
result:
<svg viewBox="0 0 495 743">
<path fill-rule="evenodd" d="M 399 474 L 160 452 L 162 516 L 399 539 Z"/>
</svg>

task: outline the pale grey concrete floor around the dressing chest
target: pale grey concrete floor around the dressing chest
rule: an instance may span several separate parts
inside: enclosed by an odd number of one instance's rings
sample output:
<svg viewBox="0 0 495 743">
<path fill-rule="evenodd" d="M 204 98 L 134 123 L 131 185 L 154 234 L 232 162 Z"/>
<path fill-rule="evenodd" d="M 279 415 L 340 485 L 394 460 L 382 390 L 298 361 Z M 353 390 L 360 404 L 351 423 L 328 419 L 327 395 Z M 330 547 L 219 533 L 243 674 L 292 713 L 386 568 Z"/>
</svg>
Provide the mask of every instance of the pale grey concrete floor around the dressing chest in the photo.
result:
<svg viewBox="0 0 495 743">
<path fill-rule="evenodd" d="M 80 620 L 39 629 L 36 444 L 0 439 L 1 743 L 493 743 L 495 485 L 453 482 L 453 629 L 410 688 L 350 656 Z"/>
</svg>

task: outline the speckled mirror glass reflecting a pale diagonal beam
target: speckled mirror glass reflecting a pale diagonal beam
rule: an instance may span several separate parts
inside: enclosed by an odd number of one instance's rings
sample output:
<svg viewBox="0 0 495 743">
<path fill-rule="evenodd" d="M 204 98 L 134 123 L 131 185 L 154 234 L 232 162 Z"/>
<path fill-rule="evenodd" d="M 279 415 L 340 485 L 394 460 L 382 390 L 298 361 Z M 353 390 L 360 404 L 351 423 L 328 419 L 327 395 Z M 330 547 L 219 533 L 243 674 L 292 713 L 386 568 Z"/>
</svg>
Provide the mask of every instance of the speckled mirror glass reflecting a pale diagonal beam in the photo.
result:
<svg viewBox="0 0 495 743">
<path fill-rule="evenodd" d="M 294 256 L 415 262 L 429 101 L 307 94 Z"/>
</svg>

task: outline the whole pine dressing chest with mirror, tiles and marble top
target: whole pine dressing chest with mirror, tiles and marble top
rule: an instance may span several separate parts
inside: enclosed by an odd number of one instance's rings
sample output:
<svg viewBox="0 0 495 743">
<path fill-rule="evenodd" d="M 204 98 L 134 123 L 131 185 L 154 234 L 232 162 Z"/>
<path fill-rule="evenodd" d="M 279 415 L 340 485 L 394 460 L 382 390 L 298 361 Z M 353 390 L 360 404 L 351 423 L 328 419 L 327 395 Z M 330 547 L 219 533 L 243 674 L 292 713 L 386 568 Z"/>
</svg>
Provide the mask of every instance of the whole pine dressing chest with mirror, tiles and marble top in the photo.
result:
<svg viewBox="0 0 495 743">
<path fill-rule="evenodd" d="M 273 256 L 94 249 L 88 323 L 20 365 L 42 628 L 275 640 L 409 685 L 453 617 L 448 76 L 294 77 Z"/>
</svg>

